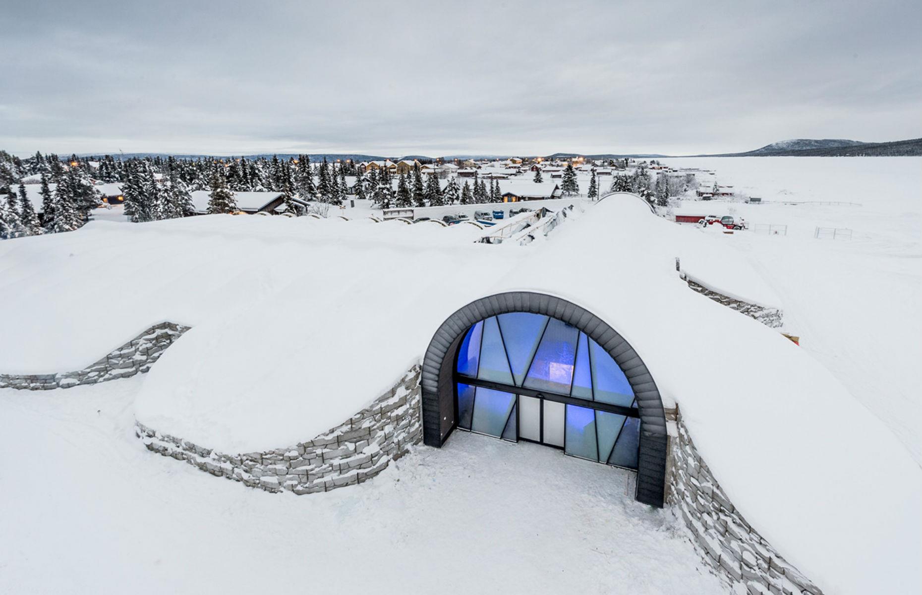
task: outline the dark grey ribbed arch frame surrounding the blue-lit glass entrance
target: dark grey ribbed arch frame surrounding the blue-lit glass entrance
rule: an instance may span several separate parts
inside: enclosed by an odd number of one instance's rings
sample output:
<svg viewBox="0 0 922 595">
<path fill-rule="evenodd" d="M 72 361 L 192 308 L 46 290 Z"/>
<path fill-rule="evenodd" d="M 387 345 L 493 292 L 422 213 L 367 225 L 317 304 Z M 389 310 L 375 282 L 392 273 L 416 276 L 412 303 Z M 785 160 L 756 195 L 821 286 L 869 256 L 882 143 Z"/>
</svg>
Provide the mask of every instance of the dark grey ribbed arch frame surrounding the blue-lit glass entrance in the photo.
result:
<svg viewBox="0 0 922 595">
<path fill-rule="evenodd" d="M 505 292 L 480 298 L 450 315 L 435 331 L 422 362 L 423 442 L 441 447 L 455 429 L 455 358 L 469 327 L 493 315 L 530 312 L 548 315 L 582 330 L 621 366 L 637 399 L 641 419 L 637 458 L 638 502 L 662 507 L 666 484 L 666 413 L 646 365 L 614 328 L 585 308 L 536 292 Z"/>
</svg>

